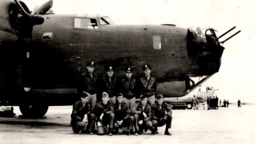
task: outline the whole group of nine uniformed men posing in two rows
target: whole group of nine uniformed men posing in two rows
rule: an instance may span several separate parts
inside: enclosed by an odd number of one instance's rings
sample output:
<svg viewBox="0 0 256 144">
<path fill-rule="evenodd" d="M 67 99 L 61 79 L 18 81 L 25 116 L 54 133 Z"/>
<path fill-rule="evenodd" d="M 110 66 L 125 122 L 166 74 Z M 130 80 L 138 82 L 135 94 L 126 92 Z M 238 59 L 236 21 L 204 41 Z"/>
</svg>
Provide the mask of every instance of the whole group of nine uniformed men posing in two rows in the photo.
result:
<svg viewBox="0 0 256 144">
<path fill-rule="evenodd" d="M 134 134 L 138 135 L 138 133 L 142 134 L 143 130 L 148 129 L 152 130 L 152 134 L 156 134 L 158 133 L 157 126 L 168 123 L 165 134 L 171 135 L 168 131 L 168 128 L 171 128 L 171 109 L 167 107 L 168 105 L 163 101 L 161 95 L 159 96 L 160 100 L 158 99 L 155 103 L 156 79 L 151 76 L 152 67 L 150 65 L 143 65 L 144 76 L 138 81 L 132 77 L 133 70 L 131 67 L 125 69 L 125 78 L 121 81 L 117 81 L 114 77 L 112 66 L 106 69 L 106 76 L 100 81 L 94 73 L 94 69 L 94 62 L 87 63 L 87 71 L 79 77 L 77 90 L 81 100 L 75 103 L 72 112 L 71 123 L 74 133 L 83 130 L 85 124 L 83 119 L 84 115 L 87 114 L 88 124 L 85 133 L 93 133 L 95 120 L 98 134 L 105 134 L 107 129 L 110 135 L 113 132 L 117 133 L 113 124 L 127 127 L 127 134 L 133 133 L 134 130 Z M 138 95 L 140 96 L 140 102 L 135 104 Z M 100 99 L 99 96 L 102 96 L 102 101 L 96 103 L 96 99 Z M 87 99 L 86 102 L 83 99 Z M 118 99 L 121 99 L 121 101 L 118 101 Z M 85 105 L 89 105 L 89 107 L 85 107 Z M 118 106 L 120 109 L 114 109 L 116 105 L 120 105 Z M 155 113 L 156 115 L 152 115 L 151 108 L 153 106 L 159 110 L 158 113 Z M 127 107 L 126 112 L 123 111 L 123 109 L 126 109 L 124 107 Z M 121 110 L 122 112 L 118 113 Z M 161 111 L 162 114 L 160 115 Z M 77 115 L 78 113 L 79 115 Z M 107 129 L 106 126 L 108 126 Z"/>
</svg>

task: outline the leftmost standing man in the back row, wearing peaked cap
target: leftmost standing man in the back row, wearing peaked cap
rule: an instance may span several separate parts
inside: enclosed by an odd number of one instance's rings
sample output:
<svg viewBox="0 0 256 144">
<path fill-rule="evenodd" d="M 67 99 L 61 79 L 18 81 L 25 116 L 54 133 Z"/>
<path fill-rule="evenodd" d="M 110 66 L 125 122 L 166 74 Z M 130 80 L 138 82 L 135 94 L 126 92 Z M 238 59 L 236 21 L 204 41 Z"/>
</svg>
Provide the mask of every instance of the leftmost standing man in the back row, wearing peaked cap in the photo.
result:
<svg viewBox="0 0 256 144">
<path fill-rule="evenodd" d="M 97 92 L 97 76 L 93 72 L 95 69 L 95 62 L 87 63 L 87 71 L 83 73 L 79 78 L 78 93 L 87 92 L 89 96 L 89 103 L 91 104 L 91 111 L 96 105 L 96 92 Z"/>
</svg>

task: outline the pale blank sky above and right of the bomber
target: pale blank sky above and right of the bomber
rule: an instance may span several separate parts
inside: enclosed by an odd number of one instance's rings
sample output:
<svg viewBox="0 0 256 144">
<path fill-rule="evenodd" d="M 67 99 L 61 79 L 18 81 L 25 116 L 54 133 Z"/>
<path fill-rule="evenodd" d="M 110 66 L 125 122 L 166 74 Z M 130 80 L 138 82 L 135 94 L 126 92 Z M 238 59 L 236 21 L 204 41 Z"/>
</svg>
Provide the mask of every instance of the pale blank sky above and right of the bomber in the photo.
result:
<svg viewBox="0 0 256 144">
<path fill-rule="evenodd" d="M 24 0 L 30 10 L 46 1 Z M 204 85 L 219 89 L 220 99 L 256 102 L 255 0 L 54 0 L 53 10 L 59 14 L 104 14 L 116 24 L 210 26 L 219 35 L 236 26 L 231 33 L 242 32 L 224 43 L 221 69 Z"/>
</svg>

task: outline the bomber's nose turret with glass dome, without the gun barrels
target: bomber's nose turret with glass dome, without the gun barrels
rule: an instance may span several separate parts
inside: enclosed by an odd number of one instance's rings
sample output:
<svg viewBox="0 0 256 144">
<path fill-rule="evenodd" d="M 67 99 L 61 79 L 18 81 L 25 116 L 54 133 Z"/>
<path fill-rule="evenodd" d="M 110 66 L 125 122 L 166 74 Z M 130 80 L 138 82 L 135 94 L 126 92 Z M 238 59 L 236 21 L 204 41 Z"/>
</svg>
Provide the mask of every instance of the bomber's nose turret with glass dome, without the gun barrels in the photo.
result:
<svg viewBox="0 0 256 144">
<path fill-rule="evenodd" d="M 188 29 L 188 54 L 198 63 L 198 75 L 217 73 L 221 66 L 224 47 L 220 45 L 211 27 Z"/>
</svg>

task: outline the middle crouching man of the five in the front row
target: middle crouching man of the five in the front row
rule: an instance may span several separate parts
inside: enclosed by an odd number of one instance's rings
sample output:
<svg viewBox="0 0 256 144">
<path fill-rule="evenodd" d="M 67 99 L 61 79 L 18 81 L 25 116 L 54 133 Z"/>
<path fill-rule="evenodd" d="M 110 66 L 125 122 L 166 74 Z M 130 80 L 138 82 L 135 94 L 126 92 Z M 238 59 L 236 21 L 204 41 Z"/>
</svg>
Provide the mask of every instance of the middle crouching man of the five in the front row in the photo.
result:
<svg viewBox="0 0 256 144">
<path fill-rule="evenodd" d="M 114 105 L 114 114 L 115 114 L 115 122 L 114 122 L 114 130 L 118 133 L 119 130 L 123 130 L 127 128 L 126 134 L 130 135 L 131 130 L 133 130 L 133 116 L 130 115 L 130 108 L 127 103 L 123 101 L 123 94 L 118 93 L 116 97 L 117 101 Z"/>
</svg>

